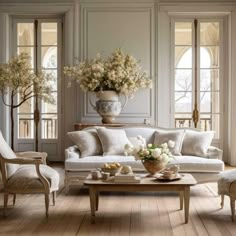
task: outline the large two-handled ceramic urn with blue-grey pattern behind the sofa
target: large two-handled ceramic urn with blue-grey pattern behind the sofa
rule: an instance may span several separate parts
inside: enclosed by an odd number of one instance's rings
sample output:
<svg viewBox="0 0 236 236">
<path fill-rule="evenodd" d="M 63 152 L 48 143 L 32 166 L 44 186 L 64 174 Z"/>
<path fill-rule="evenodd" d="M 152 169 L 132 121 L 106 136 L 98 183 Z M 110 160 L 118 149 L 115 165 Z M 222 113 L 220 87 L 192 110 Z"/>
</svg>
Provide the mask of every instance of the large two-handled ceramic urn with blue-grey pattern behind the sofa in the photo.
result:
<svg viewBox="0 0 236 236">
<path fill-rule="evenodd" d="M 115 91 L 99 91 L 96 92 L 98 100 L 94 105 L 89 98 L 93 109 L 102 117 L 102 123 L 110 124 L 115 122 L 115 117 L 119 116 L 122 109 L 126 106 L 128 97 L 125 96 L 124 104 L 119 100 L 119 95 Z"/>
</svg>

